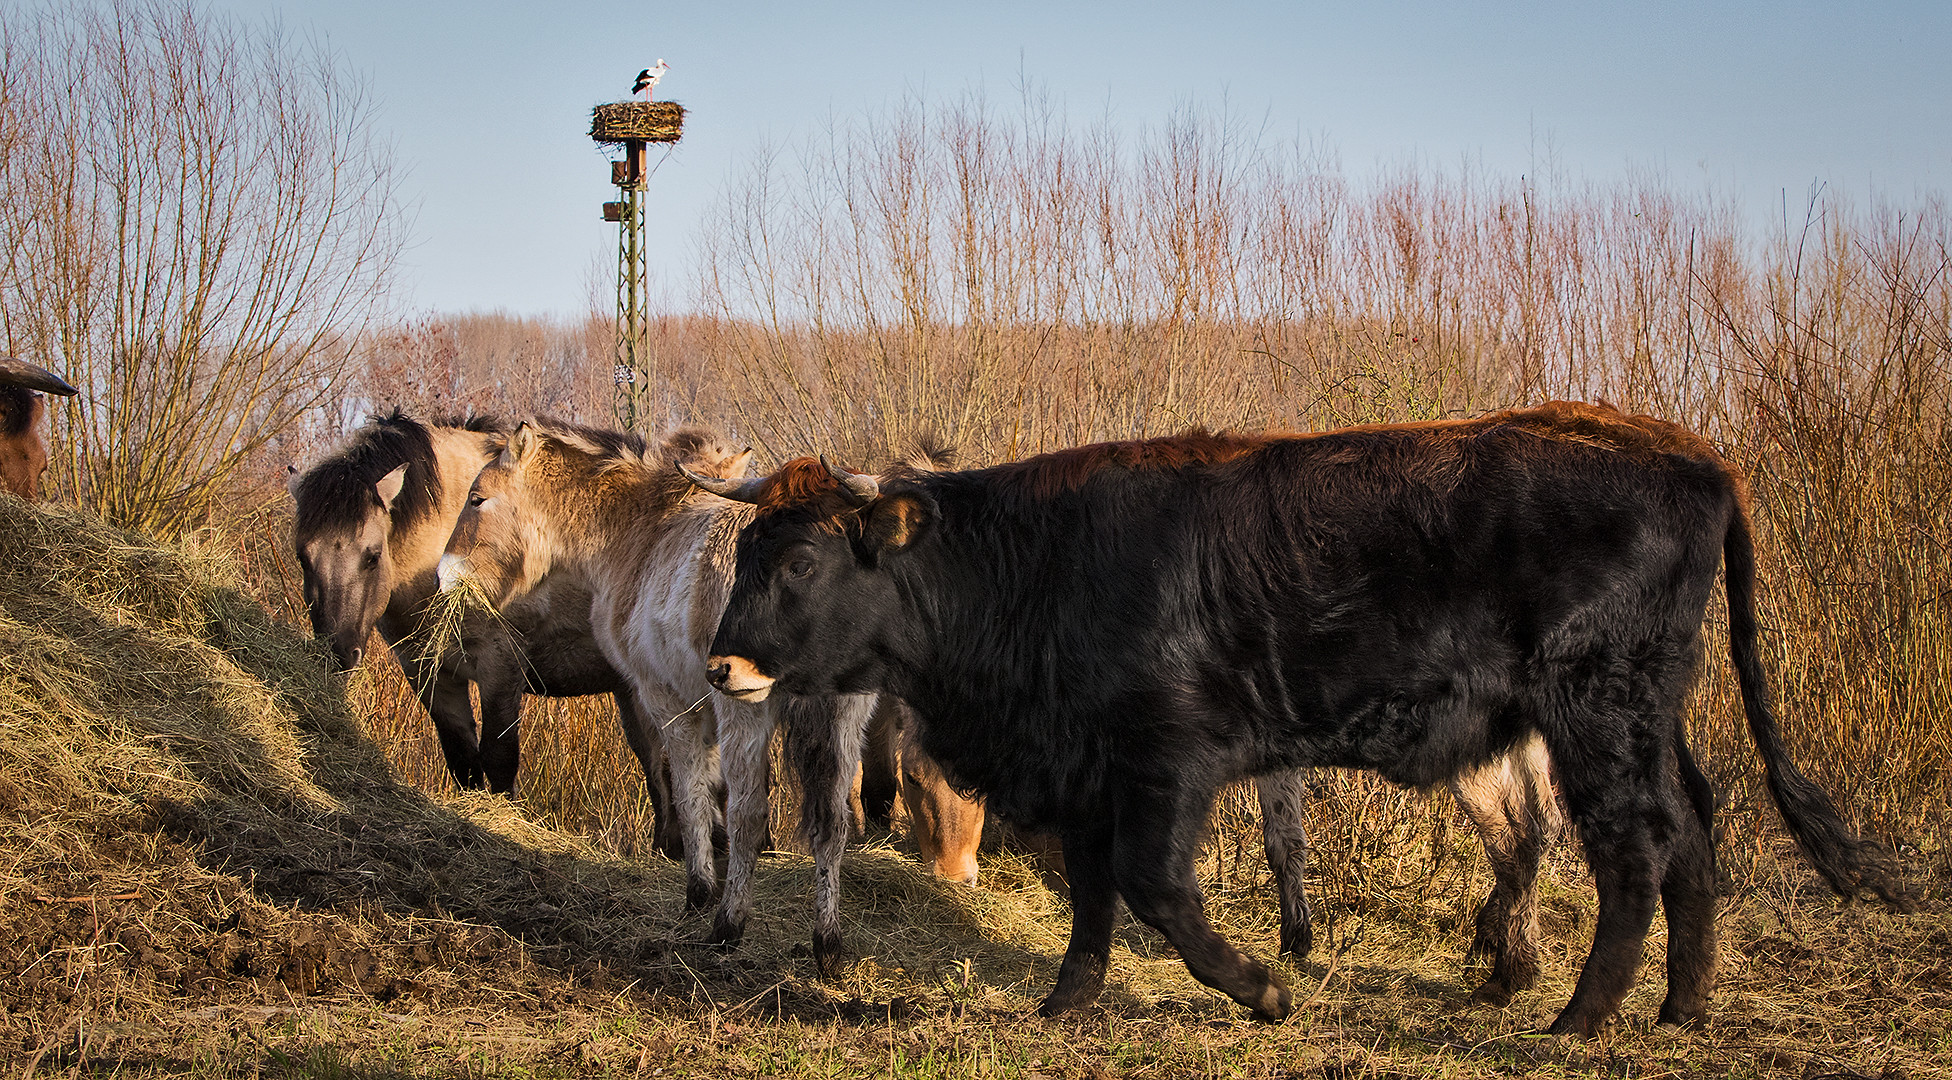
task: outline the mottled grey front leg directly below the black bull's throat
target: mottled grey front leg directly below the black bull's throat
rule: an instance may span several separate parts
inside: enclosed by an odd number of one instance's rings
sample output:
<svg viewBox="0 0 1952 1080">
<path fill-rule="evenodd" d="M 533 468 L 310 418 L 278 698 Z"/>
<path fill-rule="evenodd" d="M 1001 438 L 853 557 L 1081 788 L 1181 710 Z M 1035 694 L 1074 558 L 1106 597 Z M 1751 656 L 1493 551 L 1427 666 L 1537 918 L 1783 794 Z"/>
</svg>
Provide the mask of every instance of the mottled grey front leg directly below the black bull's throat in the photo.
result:
<svg viewBox="0 0 1952 1080">
<path fill-rule="evenodd" d="M 787 762 L 800 781 L 800 834 L 814 853 L 814 965 L 837 978 L 847 963 L 841 939 L 841 855 L 851 832 L 849 795 L 861 744 L 874 713 L 873 693 L 794 699 L 783 705 Z"/>
</svg>

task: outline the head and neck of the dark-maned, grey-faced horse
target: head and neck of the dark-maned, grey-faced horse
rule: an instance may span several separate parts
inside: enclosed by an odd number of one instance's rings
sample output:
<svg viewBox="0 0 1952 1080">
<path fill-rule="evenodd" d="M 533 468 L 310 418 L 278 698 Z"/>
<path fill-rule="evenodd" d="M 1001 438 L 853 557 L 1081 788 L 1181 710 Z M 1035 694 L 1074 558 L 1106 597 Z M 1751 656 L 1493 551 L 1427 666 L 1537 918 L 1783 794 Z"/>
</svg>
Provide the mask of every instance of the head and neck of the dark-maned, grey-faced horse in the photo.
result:
<svg viewBox="0 0 1952 1080">
<path fill-rule="evenodd" d="M 435 436 L 467 434 L 443 459 Z M 305 576 L 312 633 L 332 644 L 340 670 L 365 656 L 375 623 L 408 576 L 433 568 L 447 537 L 449 484 L 465 482 L 498 441 L 492 420 L 427 428 L 394 410 L 373 416 L 346 445 L 305 473 L 293 471 L 293 545 Z M 443 473 L 449 473 L 443 478 Z M 424 533 L 437 531 L 431 553 Z M 408 564 L 402 564 L 404 562 Z M 420 566 L 420 561 L 426 566 Z"/>
</svg>

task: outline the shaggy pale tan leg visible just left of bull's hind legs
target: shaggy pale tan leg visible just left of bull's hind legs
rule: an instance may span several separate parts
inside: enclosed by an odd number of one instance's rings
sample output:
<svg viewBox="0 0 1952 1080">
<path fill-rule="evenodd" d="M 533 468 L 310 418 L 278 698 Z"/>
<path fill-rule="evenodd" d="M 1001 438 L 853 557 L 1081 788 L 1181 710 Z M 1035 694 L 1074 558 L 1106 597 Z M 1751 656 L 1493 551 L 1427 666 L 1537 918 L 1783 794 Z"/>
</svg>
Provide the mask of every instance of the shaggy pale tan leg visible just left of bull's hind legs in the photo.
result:
<svg viewBox="0 0 1952 1080">
<path fill-rule="evenodd" d="M 1491 859 L 1491 894 L 1478 908 L 1470 957 L 1491 971 L 1472 1000 L 1493 1006 L 1538 980 L 1538 867 L 1566 826 L 1552 791 L 1552 762 L 1540 738 L 1450 781 Z"/>
</svg>

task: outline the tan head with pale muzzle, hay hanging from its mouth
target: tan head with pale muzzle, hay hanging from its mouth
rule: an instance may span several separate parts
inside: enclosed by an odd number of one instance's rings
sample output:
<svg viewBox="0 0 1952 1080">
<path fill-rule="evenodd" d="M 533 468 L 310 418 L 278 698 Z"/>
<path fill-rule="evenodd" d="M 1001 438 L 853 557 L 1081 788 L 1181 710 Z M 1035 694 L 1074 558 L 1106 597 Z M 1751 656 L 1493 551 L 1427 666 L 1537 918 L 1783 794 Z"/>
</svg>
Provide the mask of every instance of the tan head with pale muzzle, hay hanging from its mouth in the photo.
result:
<svg viewBox="0 0 1952 1080">
<path fill-rule="evenodd" d="M 463 578 L 500 605 L 523 596 L 566 553 L 597 531 L 605 502 L 625 512 L 656 514 L 689 492 L 677 465 L 714 478 L 738 478 L 752 447 L 734 445 L 703 428 L 679 428 L 656 447 L 644 439 L 549 420 L 529 422 L 474 477 L 467 508 L 441 557 L 441 588 Z"/>
</svg>

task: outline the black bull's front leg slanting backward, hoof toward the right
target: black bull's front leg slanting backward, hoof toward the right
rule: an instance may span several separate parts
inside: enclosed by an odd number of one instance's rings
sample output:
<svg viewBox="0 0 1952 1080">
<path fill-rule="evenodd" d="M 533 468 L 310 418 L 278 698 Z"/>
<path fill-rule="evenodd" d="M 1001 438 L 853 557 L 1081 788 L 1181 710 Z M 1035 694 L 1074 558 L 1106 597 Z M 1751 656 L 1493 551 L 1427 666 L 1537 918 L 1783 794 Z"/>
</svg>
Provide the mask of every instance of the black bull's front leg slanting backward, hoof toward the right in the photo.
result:
<svg viewBox="0 0 1952 1080">
<path fill-rule="evenodd" d="M 1193 859 L 1212 795 L 1134 791 L 1120 799 L 1113 832 L 1113 877 L 1132 914 L 1165 934 L 1195 978 L 1253 1010 L 1255 1019 L 1288 1016 L 1286 984 L 1261 961 L 1230 945 L 1206 922 Z M 1072 896 L 1078 875 L 1072 873 Z M 1076 900 L 1074 900 L 1076 902 Z"/>
</svg>

